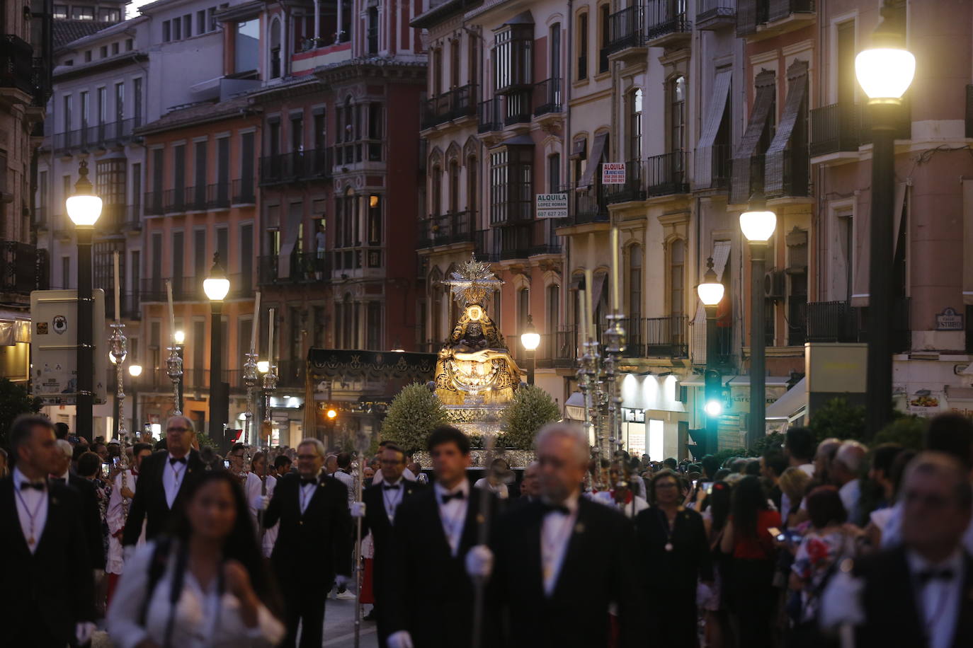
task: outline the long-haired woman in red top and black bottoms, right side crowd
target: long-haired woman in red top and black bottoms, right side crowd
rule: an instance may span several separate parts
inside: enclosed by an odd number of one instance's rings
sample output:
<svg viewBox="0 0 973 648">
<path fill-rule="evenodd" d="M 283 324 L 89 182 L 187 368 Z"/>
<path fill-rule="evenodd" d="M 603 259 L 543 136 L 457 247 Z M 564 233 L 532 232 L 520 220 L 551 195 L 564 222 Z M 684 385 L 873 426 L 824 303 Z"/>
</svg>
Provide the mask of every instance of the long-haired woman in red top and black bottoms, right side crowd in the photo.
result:
<svg viewBox="0 0 973 648">
<path fill-rule="evenodd" d="M 780 514 L 768 506 L 760 479 L 750 475 L 739 480 L 733 489 L 730 519 L 720 549 L 732 557 L 724 586 L 728 588 L 728 606 L 737 619 L 740 646 L 772 645 L 776 548 L 768 529 L 779 529 L 780 525 Z"/>
</svg>

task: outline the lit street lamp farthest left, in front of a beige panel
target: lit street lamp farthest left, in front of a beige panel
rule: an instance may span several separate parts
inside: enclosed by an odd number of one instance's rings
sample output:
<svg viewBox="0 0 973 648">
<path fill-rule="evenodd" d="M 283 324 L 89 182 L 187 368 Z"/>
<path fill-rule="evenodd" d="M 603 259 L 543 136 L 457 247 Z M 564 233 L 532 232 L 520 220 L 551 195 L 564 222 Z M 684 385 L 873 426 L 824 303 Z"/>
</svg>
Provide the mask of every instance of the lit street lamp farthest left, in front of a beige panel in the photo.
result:
<svg viewBox="0 0 973 648">
<path fill-rule="evenodd" d="M 78 165 L 74 195 L 65 200 L 78 237 L 78 380 L 75 413 L 78 436 L 91 441 L 94 420 L 94 303 L 91 299 L 91 235 L 101 216 L 101 198 L 88 179 L 88 160 Z"/>
</svg>

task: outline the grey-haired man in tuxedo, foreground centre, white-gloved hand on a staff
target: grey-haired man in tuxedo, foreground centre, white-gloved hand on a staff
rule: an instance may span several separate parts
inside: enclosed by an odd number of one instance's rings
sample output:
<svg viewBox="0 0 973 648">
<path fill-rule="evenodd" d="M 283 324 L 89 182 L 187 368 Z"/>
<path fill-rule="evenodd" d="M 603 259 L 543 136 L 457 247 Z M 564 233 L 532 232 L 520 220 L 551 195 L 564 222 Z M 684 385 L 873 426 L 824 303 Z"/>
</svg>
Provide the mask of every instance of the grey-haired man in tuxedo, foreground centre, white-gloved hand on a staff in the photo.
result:
<svg viewBox="0 0 973 648">
<path fill-rule="evenodd" d="M 581 496 L 588 466 L 587 433 L 554 424 L 537 436 L 540 498 L 510 510 L 491 533 L 491 616 L 509 646 L 603 646 L 609 606 L 618 614 L 618 646 L 639 637 L 638 592 L 631 568 L 631 523 L 612 507 Z M 489 554 L 492 554 L 490 557 Z"/>
</svg>

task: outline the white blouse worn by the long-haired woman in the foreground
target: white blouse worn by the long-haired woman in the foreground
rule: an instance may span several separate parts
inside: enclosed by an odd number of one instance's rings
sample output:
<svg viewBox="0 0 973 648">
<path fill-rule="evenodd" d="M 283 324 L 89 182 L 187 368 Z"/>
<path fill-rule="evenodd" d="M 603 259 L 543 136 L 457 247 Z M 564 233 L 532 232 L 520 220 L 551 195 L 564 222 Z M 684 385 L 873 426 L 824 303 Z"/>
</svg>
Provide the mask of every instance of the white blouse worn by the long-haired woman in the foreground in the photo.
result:
<svg viewBox="0 0 973 648">
<path fill-rule="evenodd" d="M 156 543 L 140 547 L 126 565 L 118 589 L 108 608 L 108 632 L 119 648 L 133 648 L 146 639 L 162 645 L 169 622 L 169 594 L 176 561 L 169 559 L 165 572 L 156 584 L 146 607 L 145 625 L 139 625 L 139 614 L 146 597 L 149 563 Z M 240 616 L 240 604 L 234 595 L 220 594 L 217 579 L 201 587 L 187 569 L 183 588 L 172 618 L 169 645 L 180 648 L 220 648 L 275 646 L 284 638 L 286 629 L 263 604 L 257 608 L 257 625 L 247 628 Z"/>
</svg>

